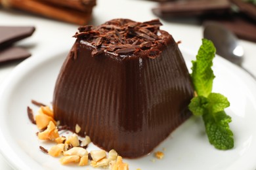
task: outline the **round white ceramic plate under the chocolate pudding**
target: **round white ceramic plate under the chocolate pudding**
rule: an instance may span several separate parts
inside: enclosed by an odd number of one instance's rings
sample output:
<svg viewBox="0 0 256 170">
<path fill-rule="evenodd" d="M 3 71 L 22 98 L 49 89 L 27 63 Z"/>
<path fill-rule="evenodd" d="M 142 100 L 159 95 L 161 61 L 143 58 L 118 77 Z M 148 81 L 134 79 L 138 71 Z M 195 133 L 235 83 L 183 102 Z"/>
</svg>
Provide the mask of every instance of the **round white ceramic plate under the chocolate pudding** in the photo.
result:
<svg viewBox="0 0 256 170">
<path fill-rule="evenodd" d="M 190 67 L 193 55 L 185 50 L 182 52 Z M 66 53 L 56 52 L 24 61 L 2 86 L 0 149 L 14 169 L 84 169 L 60 165 L 58 158 L 41 152 L 39 145 L 49 148 L 51 144 L 37 139 L 37 127 L 30 123 L 26 112 L 27 106 L 33 106 L 31 99 L 51 102 L 55 79 Z M 125 160 L 130 169 L 256 168 L 255 80 L 222 58 L 215 58 L 213 69 L 216 75 L 213 91 L 223 93 L 231 103 L 226 112 L 232 116 L 230 127 L 234 131 L 234 149 L 221 151 L 211 146 L 205 136 L 201 118 L 192 117 L 156 148 L 155 151 L 163 151 L 165 154 L 162 160 L 157 160 L 153 154 L 136 160 Z"/>
</svg>

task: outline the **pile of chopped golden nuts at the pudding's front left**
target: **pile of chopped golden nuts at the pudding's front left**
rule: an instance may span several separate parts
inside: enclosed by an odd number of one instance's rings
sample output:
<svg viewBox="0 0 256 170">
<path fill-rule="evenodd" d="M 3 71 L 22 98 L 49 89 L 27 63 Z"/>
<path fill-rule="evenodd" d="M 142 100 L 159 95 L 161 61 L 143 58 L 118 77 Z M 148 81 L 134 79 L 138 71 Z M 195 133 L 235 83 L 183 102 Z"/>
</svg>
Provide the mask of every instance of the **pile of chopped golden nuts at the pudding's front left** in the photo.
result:
<svg viewBox="0 0 256 170">
<path fill-rule="evenodd" d="M 59 131 L 68 129 L 67 127 L 58 126 L 54 120 L 53 110 L 49 106 L 32 101 L 39 106 L 37 114 L 33 116 L 33 110 L 28 107 L 28 118 L 33 124 L 36 124 L 40 130 L 37 136 L 41 140 L 53 141 L 56 143 L 49 150 L 39 146 L 39 148 L 53 157 L 60 157 L 60 163 L 77 163 L 79 166 L 91 165 L 93 167 L 102 167 L 112 170 L 128 170 L 127 163 L 123 163 L 122 157 L 118 156 L 116 150 L 112 149 L 107 153 L 104 150 L 91 150 L 88 152 L 87 146 L 91 143 L 89 136 L 80 141 L 76 133 L 79 133 L 81 127 L 75 126 L 75 133 L 67 137 L 60 136 Z"/>
</svg>

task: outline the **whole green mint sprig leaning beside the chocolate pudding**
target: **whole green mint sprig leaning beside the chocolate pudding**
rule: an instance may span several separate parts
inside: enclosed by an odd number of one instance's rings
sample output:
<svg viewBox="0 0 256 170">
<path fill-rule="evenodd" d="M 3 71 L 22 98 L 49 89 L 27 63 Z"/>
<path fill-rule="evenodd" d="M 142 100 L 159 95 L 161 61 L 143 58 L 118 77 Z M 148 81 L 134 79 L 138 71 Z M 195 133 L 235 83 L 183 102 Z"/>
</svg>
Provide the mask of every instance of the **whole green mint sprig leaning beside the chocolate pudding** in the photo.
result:
<svg viewBox="0 0 256 170">
<path fill-rule="evenodd" d="M 229 127 L 231 118 L 224 112 L 230 103 L 224 95 L 211 92 L 215 78 L 211 69 L 215 52 L 213 43 L 203 39 L 191 68 L 191 78 L 197 96 L 191 100 L 188 108 L 194 115 L 203 117 L 209 142 L 215 148 L 228 150 L 234 147 L 233 133 Z"/>
</svg>

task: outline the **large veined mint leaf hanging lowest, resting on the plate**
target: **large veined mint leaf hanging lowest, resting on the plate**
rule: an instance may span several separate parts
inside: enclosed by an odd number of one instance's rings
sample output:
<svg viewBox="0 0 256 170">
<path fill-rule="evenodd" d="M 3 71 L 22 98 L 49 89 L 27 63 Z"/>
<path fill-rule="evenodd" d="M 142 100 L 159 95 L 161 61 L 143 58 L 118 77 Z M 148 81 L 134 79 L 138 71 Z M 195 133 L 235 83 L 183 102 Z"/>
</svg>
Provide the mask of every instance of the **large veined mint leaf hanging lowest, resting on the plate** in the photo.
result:
<svg viewBox="0 0 256 170">
<path fill-rule="evenodd" d="M 203 120 L 209 143 L 220 150 L 234 147 L 233 133 L 228 126 L 231 122 L 230 116 L 221 111 L 215 114 L 203 114 Z"/>
</svg>

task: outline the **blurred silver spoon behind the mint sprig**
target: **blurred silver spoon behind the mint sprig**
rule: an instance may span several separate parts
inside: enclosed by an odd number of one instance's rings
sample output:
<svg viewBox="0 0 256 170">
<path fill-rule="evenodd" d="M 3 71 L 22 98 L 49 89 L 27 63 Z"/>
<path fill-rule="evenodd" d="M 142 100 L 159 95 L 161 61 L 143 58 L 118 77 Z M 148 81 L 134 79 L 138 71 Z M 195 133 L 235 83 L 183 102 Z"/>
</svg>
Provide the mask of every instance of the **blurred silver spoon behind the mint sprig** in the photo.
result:
<svg viewBox="0 0 256 170">
<path fill-rule="evenodd" d="M 238 43 L 236 35 L 217 22 L 205 22 L 203 26 L 203 37 L 213 42 L 216 48 L 216 54 L 247 71 L 247 69 L 242 67 L 244 48 Z M 256 79 L 252 73 L 249 71 L 247 73 Z"/>
</svg>

